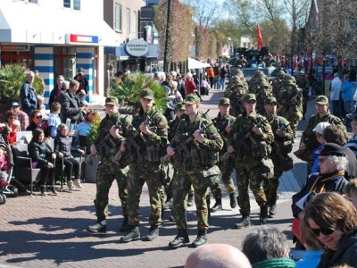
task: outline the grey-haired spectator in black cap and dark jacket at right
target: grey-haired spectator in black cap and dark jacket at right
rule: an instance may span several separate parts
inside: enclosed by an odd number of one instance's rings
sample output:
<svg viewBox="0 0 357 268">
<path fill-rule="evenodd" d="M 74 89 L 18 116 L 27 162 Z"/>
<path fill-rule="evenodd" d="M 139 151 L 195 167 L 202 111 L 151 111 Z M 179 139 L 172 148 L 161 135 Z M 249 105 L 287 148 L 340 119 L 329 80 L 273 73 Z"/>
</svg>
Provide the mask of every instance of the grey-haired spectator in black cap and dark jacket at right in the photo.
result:
<svg viewBox="0 0 357 268">
<path fill-rule="evenodd" d="M 320 151 L 316 152 L 316 155 L 320 157 L 320 172 L 309 175 L 303 188 L 293 196 L 291 205 L 293 215 L 300 220 L 303 219 L 303 206 L 307 203 L 311 193 L 338 192 L 343 194 L 348 182 L 344 176 L 348 162 L 343 147 L 335 143 L 326 143 Z M 297 241 L 295 247 L 304 249 L 300 241 Z"/>
</svg>

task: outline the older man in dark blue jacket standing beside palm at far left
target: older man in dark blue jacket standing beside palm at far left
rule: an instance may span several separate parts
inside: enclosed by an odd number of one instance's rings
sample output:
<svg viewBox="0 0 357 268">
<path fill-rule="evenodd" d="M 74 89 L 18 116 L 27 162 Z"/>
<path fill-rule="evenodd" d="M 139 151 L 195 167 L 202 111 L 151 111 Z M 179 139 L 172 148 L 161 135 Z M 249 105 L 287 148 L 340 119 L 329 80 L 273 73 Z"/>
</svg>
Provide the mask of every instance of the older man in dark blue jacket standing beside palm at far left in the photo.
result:
<svg viewBox="0 0 357 268">
<path fill-rule="evenodd" d="M 35 80 L 35 73 L 33 71 L 26 72 L 26 81 L 22 84 L 20 89 L 21 108 L 23 112 L 28 115 L 33 110 L 39 109 L 38 100 L 32 84 Z"/>
</svg>

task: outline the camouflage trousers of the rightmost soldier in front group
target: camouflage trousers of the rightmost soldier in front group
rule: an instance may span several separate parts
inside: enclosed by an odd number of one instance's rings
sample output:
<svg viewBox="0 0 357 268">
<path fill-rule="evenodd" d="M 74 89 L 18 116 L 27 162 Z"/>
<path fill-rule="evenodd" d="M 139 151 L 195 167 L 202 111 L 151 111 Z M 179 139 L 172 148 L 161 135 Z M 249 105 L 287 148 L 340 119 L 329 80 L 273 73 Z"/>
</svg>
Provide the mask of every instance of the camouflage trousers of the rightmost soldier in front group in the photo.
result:
<svg viewBox="0 0 357 268">
<path fill-rule="evenodd" d="M 272 155 L 271 160 L 274 163 L 274 176 L 271 179 L 264 178 L 263 189 L 265 197 L 267 197 L 268 205 L 275 205 L 278 200 L 279 179 L 283 174 L 283 170 L 281 168 L 281 163 L 277 155 Z"/>
</svg>

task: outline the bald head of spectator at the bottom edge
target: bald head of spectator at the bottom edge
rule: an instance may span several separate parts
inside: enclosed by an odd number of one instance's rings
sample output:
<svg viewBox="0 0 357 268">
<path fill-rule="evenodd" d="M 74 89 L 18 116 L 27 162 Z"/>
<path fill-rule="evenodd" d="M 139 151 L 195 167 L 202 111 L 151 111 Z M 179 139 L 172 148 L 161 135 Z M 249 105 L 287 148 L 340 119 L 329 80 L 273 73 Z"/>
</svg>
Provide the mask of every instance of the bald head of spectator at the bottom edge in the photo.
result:
<svg viewBox="0 0 357 268">
<path fill-rule="evenodd" d="M 186 268 L 249 268 L 246 256 L 237 247 L 226 244 L 210 244 L 198 247 L 188 255 Z"/>
</svg>

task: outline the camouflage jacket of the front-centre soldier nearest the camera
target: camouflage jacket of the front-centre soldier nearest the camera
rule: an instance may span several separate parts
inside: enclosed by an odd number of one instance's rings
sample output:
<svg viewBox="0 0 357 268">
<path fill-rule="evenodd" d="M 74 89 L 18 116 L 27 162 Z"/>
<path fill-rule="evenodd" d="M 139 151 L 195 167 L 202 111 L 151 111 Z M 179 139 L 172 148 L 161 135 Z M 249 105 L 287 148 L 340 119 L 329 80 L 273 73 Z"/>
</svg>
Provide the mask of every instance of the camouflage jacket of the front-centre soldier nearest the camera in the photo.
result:
<svg viewBox="0 0 357 268">
<path fill-rule="evenodd" d="M 201 130 L 204 137 L 202 143 L 191 138 L 195 130 Z M 188 138 L 192 140 L 187 143 Z M 218 162 L 223 140 L 212 121 L 203 118 L 202 113 L 197 113 L 192 123 L 189 122 L 188 117 L 180 120 L 179 128 L 170 142 L 170 147 L 175 149 L 182 144 L 185 144 L 186 150 L 181 150 L 174 155 L 176 166 L 184 171 L 197 171 L 210 168 Z"/>
</svg>

